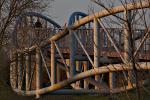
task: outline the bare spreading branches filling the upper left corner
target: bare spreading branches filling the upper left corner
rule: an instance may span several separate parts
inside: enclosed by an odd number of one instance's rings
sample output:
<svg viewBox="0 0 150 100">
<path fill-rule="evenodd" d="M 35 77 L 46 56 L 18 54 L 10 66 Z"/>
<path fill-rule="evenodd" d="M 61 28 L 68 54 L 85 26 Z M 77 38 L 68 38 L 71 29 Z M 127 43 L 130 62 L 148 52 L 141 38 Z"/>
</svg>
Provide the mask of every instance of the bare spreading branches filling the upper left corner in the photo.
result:
<svg viewBox="0 0 150 100">
<path fill-rule="evenodd" d="M 42 12 L 53 0 L 0 0 L 0 47 L 8 42 L 14 20 L 25 11 Z M 4 41 L 5 40 L 5 41 Z"/>
</svg>

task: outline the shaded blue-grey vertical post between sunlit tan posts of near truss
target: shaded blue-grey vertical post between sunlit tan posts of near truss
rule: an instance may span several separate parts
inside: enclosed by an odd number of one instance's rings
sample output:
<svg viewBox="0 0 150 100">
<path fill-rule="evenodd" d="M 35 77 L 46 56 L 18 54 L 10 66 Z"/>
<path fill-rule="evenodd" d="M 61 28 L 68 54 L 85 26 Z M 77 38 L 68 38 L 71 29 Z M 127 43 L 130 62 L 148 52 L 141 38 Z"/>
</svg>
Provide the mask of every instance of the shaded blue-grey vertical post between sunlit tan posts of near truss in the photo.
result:
<svg viewBox="0 0 150 100">
<path fill-rule="evenodd" d="M 76 74 L 76 63 L 75 63 L 75 37 L 70 30 L 70 77 Z"/>
</svg>

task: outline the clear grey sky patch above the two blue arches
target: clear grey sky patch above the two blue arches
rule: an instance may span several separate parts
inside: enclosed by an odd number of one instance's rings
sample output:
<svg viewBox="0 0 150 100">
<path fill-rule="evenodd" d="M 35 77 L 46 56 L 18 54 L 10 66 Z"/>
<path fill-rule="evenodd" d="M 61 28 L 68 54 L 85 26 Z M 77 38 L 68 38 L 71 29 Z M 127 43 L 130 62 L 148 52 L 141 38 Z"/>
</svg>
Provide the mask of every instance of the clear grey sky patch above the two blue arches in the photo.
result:
<svg viewBox="0 0 150 100">
<path fill-rule="evenodd" d="M 89 6 L 96 6 L 90 0 L 55 0 L 48 15 L 61 26 L 68 22 L 69 16 L 75 11 L 88 13 Z M 95 11 L 98 11 L 96 7 Z"/>
</svg>

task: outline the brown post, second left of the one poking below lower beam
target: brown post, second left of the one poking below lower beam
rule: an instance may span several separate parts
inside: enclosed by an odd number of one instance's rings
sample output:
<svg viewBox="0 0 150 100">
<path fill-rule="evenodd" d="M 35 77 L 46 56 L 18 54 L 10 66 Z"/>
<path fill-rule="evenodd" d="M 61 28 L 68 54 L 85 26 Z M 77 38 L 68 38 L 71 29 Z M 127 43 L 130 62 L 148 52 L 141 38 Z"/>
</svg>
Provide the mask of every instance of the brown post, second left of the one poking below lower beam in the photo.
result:
<svg viewBox="0 0 150 100">
<path fill-rule="evenodd" d="M 21 91 L 22 85 L 22 64 L 21 64 L 21 53 L 18 53 L 18 90 Z"/>
</svg>

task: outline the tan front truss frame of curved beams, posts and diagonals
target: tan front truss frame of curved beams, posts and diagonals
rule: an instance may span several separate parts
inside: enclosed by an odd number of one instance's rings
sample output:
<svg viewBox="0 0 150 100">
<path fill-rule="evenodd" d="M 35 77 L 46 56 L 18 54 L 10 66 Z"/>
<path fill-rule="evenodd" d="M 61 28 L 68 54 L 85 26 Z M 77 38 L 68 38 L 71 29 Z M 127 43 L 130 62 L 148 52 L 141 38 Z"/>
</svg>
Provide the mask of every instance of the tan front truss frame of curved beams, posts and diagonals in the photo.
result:
<svg viewBox="0 0 150 100">
<path fill-rule="evenodd" d="M 116 14 L 116 13 L 120 13 L 120 12 L 124 12 L 125 16 L 127 16 L 126 14 L 128 12 L 130 12 L 131 10 L 134 9 L 142 9 L 142 8 L 149 8 L 150 7 L 150 3 L 148 1 L 142 1 L 142 3 L 136 3 L 136 4 L 127 4 L 127 9 L 124 8 L 123 5 L 121 6 L 117 6 L 114 8 L 111 8 L 111 12 L 107 11 L 107 10 L 102 10 L 98 13 L 94 13 L 93 15 L 89 15 L 86 16 L 82 19 L 79 19 L 78 21 L 75 21 L 75 23 L 73 25 L 70 25 L 68 27 L 64 27 L 62 28 L 61 31 L 59 31 L 58 33 L 56 33 L 54 36 L 52 36 L 51 38 L 49 38 L 48 41 L 43 41 L 40 45 L 33 45 L 30 48 L 26 48 L 25 50 L 15 50 L 15 55 L 17 54 L 17 58 L 18 62 L 17 62 L 17 71 L 18 71 L 18 85 L 14 88 L 14 86 L 12 86 L 13 90 L 15 92 L 17 92 L 18 94 L 21 95 L 27 95 L 27 96 L 31 96 L 31 95 L 36 95 L 37 98 L 40 97 L 41 94 L 45 94 L 45 93 L 54 93 L 54 94 L 67 94 L 67 93 L 72 93 L 72 94 L 85 94 L 85 93 L 91 93 L 91 94 L 98 94 L 98 93 L 116 93 L 116 92 L 120 92 L 120 91 L 124 91 L 123 87 L 121 88 L 115 88 L 115 82 L 114 82 L 114 75 L 116 71 L 125 71 L 125 70 L 132 70 L 133 67 L 131 67 L 132 62 L 130 62 L 130 54 L 131 54 L 131 50 L 129 50 L 128 48 L 130 47 L 130 34 L 128 33 L 127 30 L 124 30 L 124 33 L 126 34 L 127 38 L 126 40 L 124 40 L 124 48 L 125 48 L 125 52 L 124 52 L 124 56 L 121 55 L 121 53 L 119 52 L 119 49 L 117 48 L 117 46 L 115 45 L 113 39 L 111 38 L 109 32 L 107 31 L 107 29 L 104 27 L 103 23 L 101 23 L 100 18 L 112 15 L 112 14 Z M 125 20 L 127 18 L 125 17 Z M 86 51 L 86 48 L 84 47 L 84 45 L 82 44 L 82 42 L 80 41 L 79 37 L 75 34 L 75 30 L 77 30 L 80 26 L 85 25 L 89 22 L 93 21 L 93 30 L 94 30 L 94 60 L 92 61 L 90 55 L 88 54 L 88 52 Z M 109 38 L 110 42 L 113 44 L 115 50 L 117 51 L 118 55 L 120 56 L 123 64 L 114 64 L 114 66 L 112 65 L 108 65 L 108 66 L 101 66 L 99 65 L 99 47 L 100 47 L 100 43 L 99 43 L 99 27 L 102 27 L 104 29 L 104 31 L 106 32 L 107 37 Z M 142 43 L 139 45 L 139 47 L 137 48 L 136 52 L 133 54 L 133 57 L 135 57 L 137 55 L 137 52 L 139 51 L 139 49 L 141 48 L 141 45 L 143 44 L 143 42 L 145 41 L 146 37 L 148 36 L 150 32 L 150 28 L 148 29 L 146 35 L 144 36 Z M 62 39 L 63 37 L 65 37 L 67 34 L 69 34 L 70 36 L 70 66 L 68 69 L 68 65 L 65 63 L 65 59 L 63 58 L 63 55 L 57 45 L 57 41 Z M 91 63 L 91 65 L 93 66 L 93 69 L 88 70 L 87 64 L 85 62 L 84 66 L 85 72 L 76 74 L 76 66 L 75 66 L 75 41 L 77 41 L 81 48 L 83 49 L 84 53 L 86 54 L 89 62 Z M 50 45 L 50 58 L 51 58 L 51 72 L 48 73 L 48 68 L 46 67 L 48 76 L 50 78 L 50 82 L 51 82 L 51 86 L 45 87 L 45 88 L 41 88 L 40 84 L 41 84 L 41 60 L 43 59 L 42 54 L 41 54 L 41 48 Z M 68 75 L 68 79 L 58 82 L 57 83 L 57 70 L 56 70 L 56 50 L 58 51 L 60 57 L 62 58 L 63 62 L 65 63 L 65 67 L 64 69 L 66 70 L 66 73 Z M 36 64 L 35 64 L 35 75 L 36 75 L 36 89 L 30 91 L 29 90 L 29 74 L 28 74 L 28 70 L 29 67 L 26 67 L 26 73 L 25 73 L 25 80 L 26 80 L 26 89 L 22 90 L 22 71 L 23 69 L 20 67 L 20 56 L 21 54 L 26 54 L 26 66 L 31 66 L 30 65 L 30 52 L 32 51 L 36 51 Z M 13 52 L 14 53 L 14 52 Z M 14 57 L 12 57 L 14 58 Z M 14 62 L 11 63 L 10 66 L 13 66 Z M 99 67 L 101 66 L 101 67 Z M 123 67 L 122 67 L 123 66 Z M 140 66 L 140 67 L 139 67 Z M 137 70 L 147 70 L 150 69 L 150 63 L 146 62 L 146 63 L 138 63 L 136 65 Z M 110 84 L 110 90 L 98 90 L 98 85 L 95 85 L 95 89 L 88 89 L 88 81 L 92 81 L 90 80 L 88 77 L 91 76 L 95 76 L 95 80 L 94 81 L 99 81 L 100 76 L 99 74 L 102 73 L 109 73 L 109 84 Z M 11 75 L 11 77 L 13 77 Z M 76 82 L 78 82 L 79 80 L 84 80 L 84 89 L 79 89 L 80 87 L 76 87 L 75 84 Z M 145 83 L 146 81 L 143 81 L 143 83 Z M 64 88 L 67 85 L 70 85 L 73 88 L 77 88 L 75 90 L 63 90 L 62 88 Z M 133 84 L 133 86 L 131 86 L 130 81 L 128 82 L 128 86 L 126 87 L 126 89 L 131 89 L 135 87 L 135 84 Z"/>
</svg>

